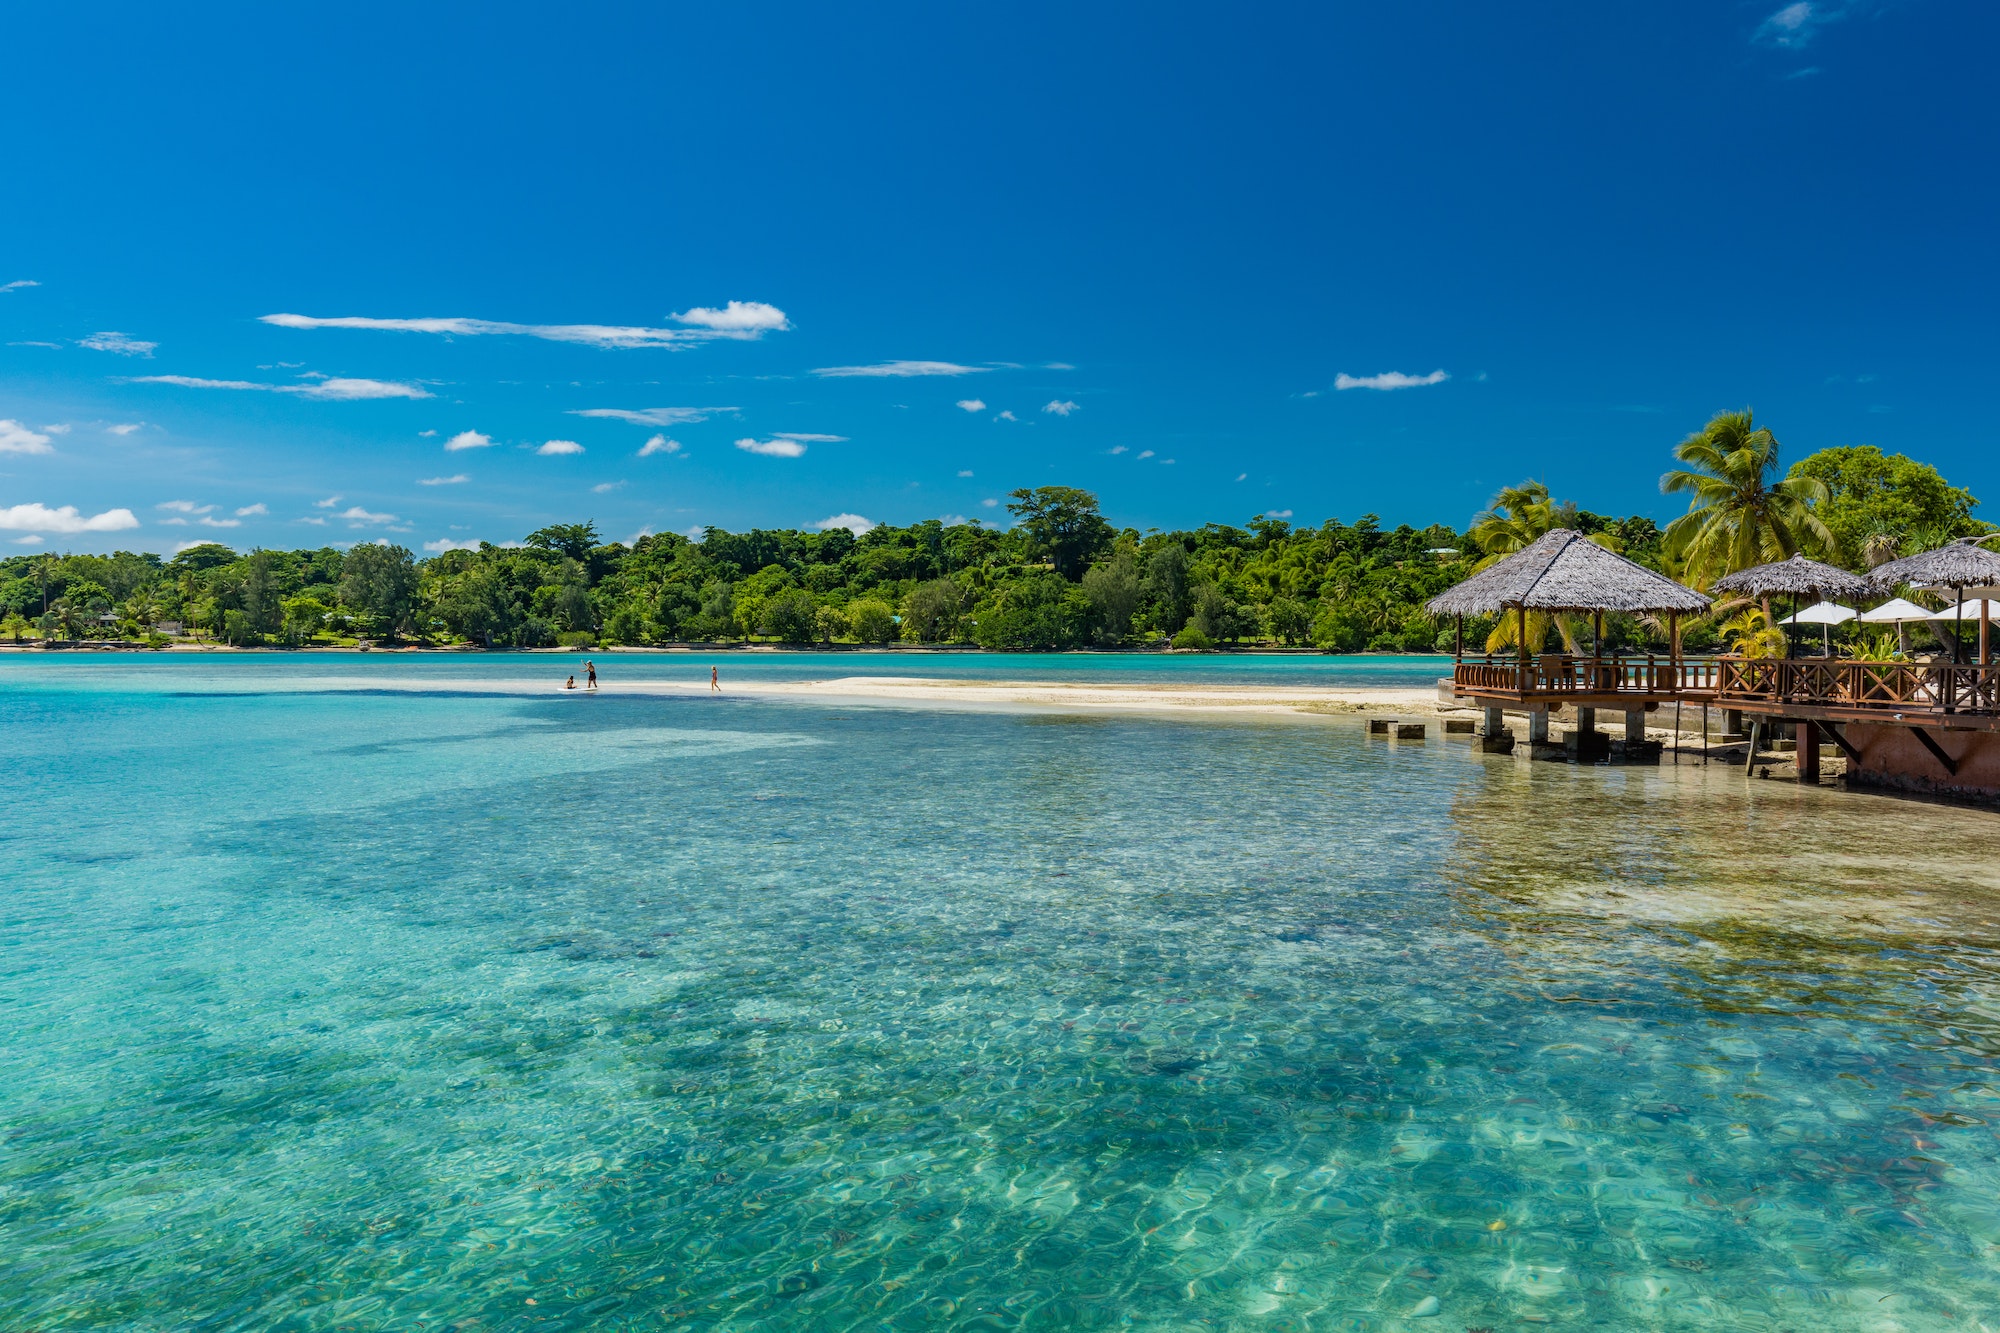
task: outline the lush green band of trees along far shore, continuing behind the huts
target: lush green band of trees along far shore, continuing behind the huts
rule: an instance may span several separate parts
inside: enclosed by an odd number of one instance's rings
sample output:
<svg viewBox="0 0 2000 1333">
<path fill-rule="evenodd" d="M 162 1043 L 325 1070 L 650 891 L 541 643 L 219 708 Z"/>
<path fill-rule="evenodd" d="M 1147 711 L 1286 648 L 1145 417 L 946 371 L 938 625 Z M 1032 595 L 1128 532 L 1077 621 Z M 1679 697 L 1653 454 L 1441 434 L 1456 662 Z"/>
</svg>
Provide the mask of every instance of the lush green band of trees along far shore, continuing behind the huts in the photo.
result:
<svg viewBox="0 0 2000 1333">
<path fill-rule="evenodd" d="M 1740 418 L 1748 428 L 1748 414 Z M 1696 438 L 1682 444 L 1684 460 Z M 1800 506 L 1794 546 L 1850 568 L 1988 530 L 1972 516 L 1976 498 L 1900 454 L 1830 448 L 1782 474 L 1774 440 L 1768 454 L 1750 480 Z M 1690 488 L 1672 484 L 1674 476 L 1670 490 Z M 1744 502 L 1770 508 L 1756 496 Z M 1292 526 L 1260 514 L 1242 526 L 1140 532 L 1106 522 L 1086 490 L 1036 486 L 1012 492 L 1006 528 L 940 520 L 860 534 L 708 528 L 700 538 L 658 534 L 628 544 L 574 522 L 432 558 L 390 544 L 250 552 L 198 544 L 172 558 L 32 554 L 0 560 L 0 630 L 166 642 L 162 628 L 178 626 L 184 636 L 284 646 L 358 638 L 488 648 L 1170 642 L 1428 652 L 1450 650 L 1454 626 L 1426 614 L 1424 600 L 1550 526 L 1574 526 L 1704 586 L 1722 564 L 1706 558 L 1704 566 L 1702 540 L 1726 520 L 1728 504 L 1726 492 L 1720 500 L 1698 492 L 1690 518 L 1700 522 L 1662 530 L 1644 516 L 1594 514 L 1522 484 L 1466 528 L 1384 528 L 1372 514 Z M 1782 548 L 1792 538 L 1758 540 Z M 1488 628 L 1468 626 L 1468 642 Z M 1610 632 L 1620 644 L 1646 644 L 1658 626 L 1614 618 Z M 1714 634 L 1712 624 L 1696 624 L 1686 642 L 1698 648 Z"/>
</svg>

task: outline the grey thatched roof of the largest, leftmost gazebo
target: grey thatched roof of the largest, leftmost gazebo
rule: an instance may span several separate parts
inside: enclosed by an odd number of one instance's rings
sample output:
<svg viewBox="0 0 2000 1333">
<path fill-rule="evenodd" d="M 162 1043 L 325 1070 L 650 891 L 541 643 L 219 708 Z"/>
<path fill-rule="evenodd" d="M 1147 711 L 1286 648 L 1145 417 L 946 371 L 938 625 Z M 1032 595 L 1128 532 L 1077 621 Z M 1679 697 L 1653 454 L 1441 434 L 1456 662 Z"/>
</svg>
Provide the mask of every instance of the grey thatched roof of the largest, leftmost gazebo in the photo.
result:
<svg viewBox="0 0 2000 1333">
<path fill-rule="evenodd" d="M 1702 612 L 1708 598 L 1598 546 L 1582 532 L 1554 528 L 1424 604 L 1440 616 L 1516 608 Z"/>
</svg>

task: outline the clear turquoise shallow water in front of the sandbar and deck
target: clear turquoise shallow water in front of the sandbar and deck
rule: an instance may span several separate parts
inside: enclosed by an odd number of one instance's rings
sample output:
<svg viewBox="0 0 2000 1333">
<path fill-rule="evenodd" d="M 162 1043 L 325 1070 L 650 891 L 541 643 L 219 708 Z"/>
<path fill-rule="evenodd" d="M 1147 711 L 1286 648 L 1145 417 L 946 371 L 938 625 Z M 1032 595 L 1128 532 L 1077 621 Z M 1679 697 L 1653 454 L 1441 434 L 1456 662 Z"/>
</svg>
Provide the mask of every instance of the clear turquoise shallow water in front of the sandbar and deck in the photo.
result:
<svg viewBox="0 0 2000 1333">
<path fill-rule="evenodd" d="M 2000 1327 L 1990 815 L 0 669 L 0 1327 Z"/>
</svg>

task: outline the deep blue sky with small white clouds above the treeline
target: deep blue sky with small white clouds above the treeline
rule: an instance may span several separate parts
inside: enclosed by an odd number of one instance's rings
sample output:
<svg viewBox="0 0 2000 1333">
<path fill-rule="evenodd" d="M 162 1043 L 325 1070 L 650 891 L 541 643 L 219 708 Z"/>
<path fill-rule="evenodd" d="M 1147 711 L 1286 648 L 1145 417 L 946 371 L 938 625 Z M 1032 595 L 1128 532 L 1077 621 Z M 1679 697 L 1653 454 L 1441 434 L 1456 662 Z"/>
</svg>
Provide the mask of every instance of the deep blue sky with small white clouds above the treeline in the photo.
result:
<svg viewBox="0 0 2000 1333">
<path fill-rule="evenodd" d="M 2000 504 L 1990 6 L 272 8 L 0 18 L 0 550 Z"/>
</svg>

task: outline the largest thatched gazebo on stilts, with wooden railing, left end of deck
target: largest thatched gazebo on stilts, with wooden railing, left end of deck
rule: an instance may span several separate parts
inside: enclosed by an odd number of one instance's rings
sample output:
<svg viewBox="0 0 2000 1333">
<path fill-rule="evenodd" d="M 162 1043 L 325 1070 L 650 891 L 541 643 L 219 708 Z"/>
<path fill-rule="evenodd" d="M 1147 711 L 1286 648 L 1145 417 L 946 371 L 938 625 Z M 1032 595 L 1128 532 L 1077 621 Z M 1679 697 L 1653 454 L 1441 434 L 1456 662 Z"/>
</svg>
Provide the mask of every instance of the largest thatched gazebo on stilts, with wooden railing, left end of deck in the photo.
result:
<svg viewBox="0 0 2000 1333">
<path fill-rule="evenodd" d="M 1634 731 L 1644 739 L 1646 709 L 1666 699 L 1680 699 L 1690 687 L 1682 671 L 1676 620 L 1708 610 L 1708 598 L 1598 546 L 1582 532 L 1554 528 L 1430 598 L 1424 608 L 1454 616 L 1458 622 L 1452 695 L 1472 699 L 1486 709 L 1488 739 L 1500 733 L 1500 709 L 1514 705 L 1528 709 L 1530 739 L 1540 743 L 1548 735 L 1548 711 L 1564 703 L 1578 707 L 1578 731 L 1586 737 L 1596 709 L 1616 707 L 1626 713 L 1628 739 Z M 1606 658 L 1602 650 L 1606 610 L 1666 614 L 1670 642 L 1666 660 L 1652 654 Z M 1528 642 L 1530 612 L 1592 616 L 1590 656 L 1534 652 L 1534 644 Z M 1466 660 L 1464 618 L 1474 614 L 1518 616 L 1516 660 L 1494 656 Z"/>
</svg>

